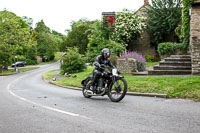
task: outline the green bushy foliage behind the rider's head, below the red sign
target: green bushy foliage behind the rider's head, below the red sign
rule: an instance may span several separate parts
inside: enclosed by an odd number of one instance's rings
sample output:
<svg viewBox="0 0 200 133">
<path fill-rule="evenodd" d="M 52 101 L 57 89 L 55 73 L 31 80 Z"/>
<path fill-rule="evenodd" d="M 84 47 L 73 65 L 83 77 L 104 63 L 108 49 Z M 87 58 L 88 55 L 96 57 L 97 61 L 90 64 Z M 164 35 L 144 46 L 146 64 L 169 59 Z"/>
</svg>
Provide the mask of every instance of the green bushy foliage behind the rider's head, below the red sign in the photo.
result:
<svg viewBox="0 0 200 133">
<path fill-rule="evenodd" d="M 97 55 L 101 54 L 103 48 L 109 48 L 112 55 L 119 56 L 125 51 L 125 47 L 120 43 L 109 40 L 111 29 L 106 28 L 101 21 L 96 21 L 89 35 L 88 49 L 86 53 L 87 61 L 93 62 Z"/>
</svg>

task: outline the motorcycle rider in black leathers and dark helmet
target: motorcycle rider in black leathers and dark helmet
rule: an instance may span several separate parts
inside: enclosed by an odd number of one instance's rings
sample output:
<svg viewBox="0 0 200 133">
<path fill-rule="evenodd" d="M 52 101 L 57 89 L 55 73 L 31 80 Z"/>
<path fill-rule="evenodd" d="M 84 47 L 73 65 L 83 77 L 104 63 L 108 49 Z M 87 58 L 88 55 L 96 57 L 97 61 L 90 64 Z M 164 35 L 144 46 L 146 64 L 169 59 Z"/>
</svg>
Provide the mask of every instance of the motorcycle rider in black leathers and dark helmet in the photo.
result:
<svg viewBox="0 0 200 133">
<path fill-rule="evenodd" d="M 90 90 L 94 92 L 95 90 L 95 83 L 96 81 L 102 76 L 103 74 L 103 70 L 101 69 L 101 67 L 105 67 L 105 66 L 109 66 L 111 68 L 115 68 L 110 59 L 110 50 L 108 48 L 104 48 L 102 50 L 102 54 L 98 55 L 96 57 L 95 62 L 93 63 L 93 65 L 95 66 L 94 70 L 93 70 L 93 78 L 92 78 L 92 83 L 91 83 L 91 87 Z"/>
</svg>

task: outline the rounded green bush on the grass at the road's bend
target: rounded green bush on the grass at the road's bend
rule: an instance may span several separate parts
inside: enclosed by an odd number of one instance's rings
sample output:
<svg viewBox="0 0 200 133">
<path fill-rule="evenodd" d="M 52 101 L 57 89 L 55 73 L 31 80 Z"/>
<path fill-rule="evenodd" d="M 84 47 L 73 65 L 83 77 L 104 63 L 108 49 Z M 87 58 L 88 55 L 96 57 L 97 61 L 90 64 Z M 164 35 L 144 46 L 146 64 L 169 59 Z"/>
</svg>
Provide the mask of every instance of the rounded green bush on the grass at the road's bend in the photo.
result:
<svg viewBox="0 0 200 133">
<path fill-rule="evenodd" d="M 78 53 L 78 49 L 68 48 L 67 53 L 62 57 L 62 73 L 82 72 L 85 68 L 85 59 Z"/>
</svg>

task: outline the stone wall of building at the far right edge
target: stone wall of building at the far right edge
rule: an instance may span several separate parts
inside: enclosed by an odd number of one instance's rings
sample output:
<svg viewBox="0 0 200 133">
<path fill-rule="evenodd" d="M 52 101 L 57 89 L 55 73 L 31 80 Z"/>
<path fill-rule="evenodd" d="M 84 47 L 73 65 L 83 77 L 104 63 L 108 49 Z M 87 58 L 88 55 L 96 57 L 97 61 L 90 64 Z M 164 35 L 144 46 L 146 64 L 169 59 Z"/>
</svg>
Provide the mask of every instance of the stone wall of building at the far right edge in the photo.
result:
<svg viewBox="0 0 200 133">
<path fill-rule="evenodd" d="M 191 8 L 190 44 L 192 46 L 192 74 L 200 75 L 200 0 Z"/>
</svg>

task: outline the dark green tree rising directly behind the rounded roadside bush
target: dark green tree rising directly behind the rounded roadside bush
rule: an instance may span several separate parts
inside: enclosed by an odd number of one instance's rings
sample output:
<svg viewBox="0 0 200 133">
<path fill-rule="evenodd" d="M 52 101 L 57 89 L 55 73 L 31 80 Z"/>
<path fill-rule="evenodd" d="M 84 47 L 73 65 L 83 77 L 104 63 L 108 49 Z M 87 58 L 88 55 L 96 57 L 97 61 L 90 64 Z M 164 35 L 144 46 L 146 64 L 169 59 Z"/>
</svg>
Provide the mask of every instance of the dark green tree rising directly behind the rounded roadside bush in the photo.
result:
<svg viewBox="0 0 200 133">
<path fill-rule="evenodd" d="M 72 23 L 72 29 L 68 31 L 67 38 L 64 42 L 64 47 L 78 47 L 79 53 L 85 54 L 87 50 L 88 30 L 91 22 L 88 20 L 79 20 Z"/>
</svg>

